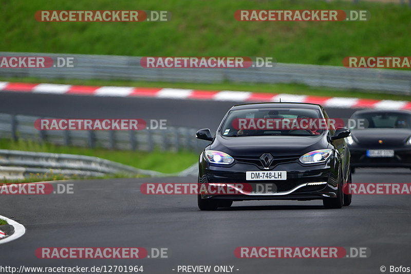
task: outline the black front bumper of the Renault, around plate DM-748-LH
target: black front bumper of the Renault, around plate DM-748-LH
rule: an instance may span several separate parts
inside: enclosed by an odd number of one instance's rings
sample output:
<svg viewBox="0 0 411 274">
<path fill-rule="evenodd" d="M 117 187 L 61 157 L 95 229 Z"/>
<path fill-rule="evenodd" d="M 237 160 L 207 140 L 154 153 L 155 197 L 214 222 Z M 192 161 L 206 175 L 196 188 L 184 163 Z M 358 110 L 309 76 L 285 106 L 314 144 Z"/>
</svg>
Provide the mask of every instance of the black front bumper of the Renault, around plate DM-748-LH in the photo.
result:
<svg viewBox="0 0 411 274">
<path fill-rule="evenodd" d="M 330 162 L 332 165 L 330 166 Z M 230 167 L 200 164 L 199 182 L 209 185 L 247 184 L 251 191 L 236 194 L 201 194 L 203 199 L 240 200 L 311 200 L 335 197 L 338 189 L 338 169 L 333 160 L 320 165 L 303 166 L 298 162 L 280 163 L 270 171 L 287 171 L 286 180 L 246 180 L 246 171 L 261 171 L 254 165 L 235 163 Z M 269 191 L 266 191 L 269 190 Z"/>
</svg>

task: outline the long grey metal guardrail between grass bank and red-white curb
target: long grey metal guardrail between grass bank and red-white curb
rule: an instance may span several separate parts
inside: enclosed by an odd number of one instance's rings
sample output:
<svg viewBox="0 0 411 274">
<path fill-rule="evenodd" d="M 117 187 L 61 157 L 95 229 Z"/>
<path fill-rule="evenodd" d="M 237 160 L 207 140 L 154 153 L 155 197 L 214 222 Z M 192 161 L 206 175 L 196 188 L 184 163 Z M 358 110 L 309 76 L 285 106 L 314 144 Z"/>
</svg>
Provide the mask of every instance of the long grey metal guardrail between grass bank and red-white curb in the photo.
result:
<svg viewBox="0 0 411 274">
<path fill-rule="evenodd" d="M 301 83 L 411 95 L 411 71 L 277 63 L 273 68 L 143 68 L 141 57 L 0 52 L 0 56 L 72 57 L 72 68 L 2 68 L 3 77 L 162 82 Z"/>
</svg>

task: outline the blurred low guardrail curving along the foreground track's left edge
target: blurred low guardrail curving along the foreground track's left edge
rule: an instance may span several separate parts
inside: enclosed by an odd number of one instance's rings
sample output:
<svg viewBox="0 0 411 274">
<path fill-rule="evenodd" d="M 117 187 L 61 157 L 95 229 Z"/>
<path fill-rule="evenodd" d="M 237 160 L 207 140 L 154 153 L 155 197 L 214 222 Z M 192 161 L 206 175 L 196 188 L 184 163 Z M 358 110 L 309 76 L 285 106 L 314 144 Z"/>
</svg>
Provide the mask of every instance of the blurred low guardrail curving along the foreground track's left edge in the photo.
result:
<svg viewBox="0 0 411 274">
<path fill-rule="evenodd" d="M 197 164 L 176 174 L 164 174 L 152 170 L 137 169 L 106 159 L 43 152 L 0 150 L 0 179 L 22 179 L 30 174 L 61 174 L 66 176 L 98 177 L 106 174 L 187 176 L 195 174 Z"/>
</svg>

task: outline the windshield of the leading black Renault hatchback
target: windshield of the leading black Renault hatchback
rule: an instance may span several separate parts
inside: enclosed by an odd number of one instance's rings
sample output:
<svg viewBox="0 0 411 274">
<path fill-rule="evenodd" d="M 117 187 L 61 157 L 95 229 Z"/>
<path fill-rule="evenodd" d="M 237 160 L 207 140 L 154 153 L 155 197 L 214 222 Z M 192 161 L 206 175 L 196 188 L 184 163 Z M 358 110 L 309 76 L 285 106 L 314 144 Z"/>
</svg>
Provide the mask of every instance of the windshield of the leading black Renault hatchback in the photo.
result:
<svg viewBox="0 0 411 274">
<path fill-rule="evenodd" d="M 221 126 L 227 137 L 245 136 L 314 136 L 327 128 L 319 109 L 255 108 L 231 111 Z"/>
</svg>

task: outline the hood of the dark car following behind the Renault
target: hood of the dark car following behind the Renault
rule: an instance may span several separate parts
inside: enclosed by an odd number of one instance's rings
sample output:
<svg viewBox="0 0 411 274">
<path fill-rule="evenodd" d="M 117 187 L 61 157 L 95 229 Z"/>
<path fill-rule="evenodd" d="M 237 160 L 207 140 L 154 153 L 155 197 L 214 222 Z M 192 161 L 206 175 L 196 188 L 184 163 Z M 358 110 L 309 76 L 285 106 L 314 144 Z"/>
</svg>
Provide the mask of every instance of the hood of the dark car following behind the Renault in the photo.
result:
<svg viewBox="0 0 411 274">
<path fill-rule="evenodd" d="M 351 136 L 357 144 L 378 145 L 403 145 L 411 136 L 410 129 L 364 129 L 353 130 Z"/>
</svg>

